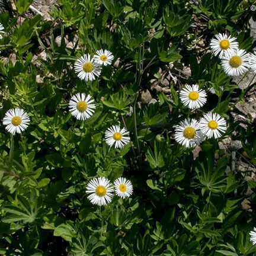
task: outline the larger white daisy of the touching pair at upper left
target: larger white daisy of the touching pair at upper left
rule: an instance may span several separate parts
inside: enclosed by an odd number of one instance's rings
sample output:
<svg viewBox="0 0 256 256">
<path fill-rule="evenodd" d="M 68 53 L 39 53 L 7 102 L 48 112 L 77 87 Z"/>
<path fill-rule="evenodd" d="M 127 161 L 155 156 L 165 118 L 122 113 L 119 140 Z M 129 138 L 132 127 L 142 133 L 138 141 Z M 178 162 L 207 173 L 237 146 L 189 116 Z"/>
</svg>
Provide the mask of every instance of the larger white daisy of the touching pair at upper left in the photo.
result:
<svg viewBox="0 0 256 256">
<path fill-rule="evenodd" d="M 85 81 L 93 81 L 101 74 L 100 65 L 94 61 L 94 58 L 91 59 L 89 54 L 76 60 L 74 68 L 75 72 L 78 73 L 78 77 Z"/>
</svg>

